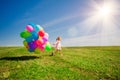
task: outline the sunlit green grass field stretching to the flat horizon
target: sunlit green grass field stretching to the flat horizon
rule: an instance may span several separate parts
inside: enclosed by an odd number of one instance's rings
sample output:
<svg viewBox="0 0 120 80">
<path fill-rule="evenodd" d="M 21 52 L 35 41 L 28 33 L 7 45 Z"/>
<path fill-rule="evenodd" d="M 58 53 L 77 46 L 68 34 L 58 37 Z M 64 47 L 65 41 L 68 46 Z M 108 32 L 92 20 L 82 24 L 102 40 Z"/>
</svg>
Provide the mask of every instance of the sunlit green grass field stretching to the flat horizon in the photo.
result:
<svg viewBox="0 0 120 80">
<path fill-rule="evenodd" d="M 69 47 L 63 56 L 0 47 L 0 80 L 120 80 L 120 47 Z"/>
</svg>

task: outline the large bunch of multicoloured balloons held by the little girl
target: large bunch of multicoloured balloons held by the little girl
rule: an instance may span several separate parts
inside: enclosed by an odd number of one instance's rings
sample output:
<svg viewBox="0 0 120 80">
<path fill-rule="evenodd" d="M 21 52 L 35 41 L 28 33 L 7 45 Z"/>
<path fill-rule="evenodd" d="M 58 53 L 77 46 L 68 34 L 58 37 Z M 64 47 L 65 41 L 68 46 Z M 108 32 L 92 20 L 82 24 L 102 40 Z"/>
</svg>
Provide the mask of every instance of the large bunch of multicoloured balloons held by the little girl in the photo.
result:
<svg viewBox="0 0 120 80">
<path fill-rule="evenodd" d="M 20 36 L 25 39 L 23 44 L 30 52 L 51 50 L 51 45 L 48 42 L 49 35 L 40 25 L 28 24 Z"/>
</svg>

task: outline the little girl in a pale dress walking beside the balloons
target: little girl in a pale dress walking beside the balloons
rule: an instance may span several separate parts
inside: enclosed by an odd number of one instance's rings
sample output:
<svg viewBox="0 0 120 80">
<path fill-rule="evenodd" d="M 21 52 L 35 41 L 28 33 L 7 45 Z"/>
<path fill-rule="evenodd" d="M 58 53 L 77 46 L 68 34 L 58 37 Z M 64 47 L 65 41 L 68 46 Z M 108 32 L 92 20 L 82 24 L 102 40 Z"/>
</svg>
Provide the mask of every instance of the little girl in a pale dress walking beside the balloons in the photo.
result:
<svg viewBox="0 0 120 80">
<path fill-rule="evenodd" d="M 55 47 L 55 52 L 52 53 L 52 56 L 55 55 L 57 52 L 60 53 L 60 55 L 62 56 L 63 54 L 61 53 L 61 37 L 58 36 L 56 39 L 56 42 L 53 44 Z"/>
</svg>

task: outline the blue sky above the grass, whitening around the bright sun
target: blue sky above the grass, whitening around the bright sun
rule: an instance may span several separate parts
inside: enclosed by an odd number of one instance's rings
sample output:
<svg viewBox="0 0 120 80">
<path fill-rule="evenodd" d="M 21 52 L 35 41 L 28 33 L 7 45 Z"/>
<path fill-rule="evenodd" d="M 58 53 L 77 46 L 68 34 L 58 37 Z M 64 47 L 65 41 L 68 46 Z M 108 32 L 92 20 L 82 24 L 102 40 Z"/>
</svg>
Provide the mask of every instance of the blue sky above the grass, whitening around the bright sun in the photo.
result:
<svg viewBox="0 0 120 80">
<path fill-rule="evenodd" d="M 97 7 L 112 4 L 111 16 Z M 53 43 L 63 46 L 120 45 L 119 0 L 0 0 L 0 46 L 21 46 L 22 32 L 30 22 L 41 25 Z"/>
</svg>

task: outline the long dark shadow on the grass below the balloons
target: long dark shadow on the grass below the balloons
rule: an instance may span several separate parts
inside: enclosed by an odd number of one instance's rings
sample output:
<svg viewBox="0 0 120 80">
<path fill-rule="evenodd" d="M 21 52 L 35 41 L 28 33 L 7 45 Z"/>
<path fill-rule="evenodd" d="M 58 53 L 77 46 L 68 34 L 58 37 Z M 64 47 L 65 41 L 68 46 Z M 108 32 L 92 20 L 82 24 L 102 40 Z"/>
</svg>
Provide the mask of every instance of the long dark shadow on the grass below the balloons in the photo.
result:
<svg viewBox="0 0 120 80">
<path fill-rule="evenodd" d="M 37 59 L 37 58 L 40 58 L 40 57 L 37 57 L 37 56 L 3 57 L 3 58 L 0 58 L 0 60 L 24 61 L 24 60 L 31 60 L 31 59 Z"/>
</svg>

